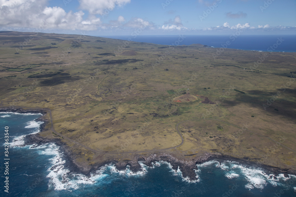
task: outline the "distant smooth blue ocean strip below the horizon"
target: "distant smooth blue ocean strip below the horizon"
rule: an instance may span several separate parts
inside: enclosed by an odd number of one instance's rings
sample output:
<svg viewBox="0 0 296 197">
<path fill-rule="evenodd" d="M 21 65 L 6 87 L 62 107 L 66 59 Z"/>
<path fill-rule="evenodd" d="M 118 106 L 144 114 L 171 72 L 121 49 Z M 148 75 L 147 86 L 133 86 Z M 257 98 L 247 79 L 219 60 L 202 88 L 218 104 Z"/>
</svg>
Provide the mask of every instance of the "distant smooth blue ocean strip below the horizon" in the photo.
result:
<svg viewBox="0 0 296 197">
<path fill-rule="evenodd" d="M 125 36 L 100 36 L 105 38 L 114 38 L 120 40 L 129 40 L 135 42 L 154 43 L 161 45 L 191 45 L 203 44 L 220 48 L 229 41 L 227 48 L 268 51 L 270 46 L 276 44 L 281 39 L 281 44 L 275 50 L 277 52 L 296 52 L 296 35 L 184 35 L 179 39 L 179 35 L 125 35 Z M 184 38 L 184 40 L 182 40 Z M 177 41 L 182 40 L 181 42 Z M 278 42 L 279 43 L 279 42 Z"/>
</svg>

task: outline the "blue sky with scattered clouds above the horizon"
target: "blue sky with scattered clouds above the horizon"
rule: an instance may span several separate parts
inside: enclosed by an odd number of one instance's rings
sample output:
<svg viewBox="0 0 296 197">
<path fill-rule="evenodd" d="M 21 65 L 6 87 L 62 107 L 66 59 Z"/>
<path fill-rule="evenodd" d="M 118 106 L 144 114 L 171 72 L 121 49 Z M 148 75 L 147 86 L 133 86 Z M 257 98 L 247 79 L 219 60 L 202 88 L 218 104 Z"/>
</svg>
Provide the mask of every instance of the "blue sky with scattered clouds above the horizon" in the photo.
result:
<svg viewBox="0 0 296 197">
<path fill-rule="evenodd" d="M 295 0 L 0 0 L 0 30 L 86 35 L 295 34 Z"/>
</svg>

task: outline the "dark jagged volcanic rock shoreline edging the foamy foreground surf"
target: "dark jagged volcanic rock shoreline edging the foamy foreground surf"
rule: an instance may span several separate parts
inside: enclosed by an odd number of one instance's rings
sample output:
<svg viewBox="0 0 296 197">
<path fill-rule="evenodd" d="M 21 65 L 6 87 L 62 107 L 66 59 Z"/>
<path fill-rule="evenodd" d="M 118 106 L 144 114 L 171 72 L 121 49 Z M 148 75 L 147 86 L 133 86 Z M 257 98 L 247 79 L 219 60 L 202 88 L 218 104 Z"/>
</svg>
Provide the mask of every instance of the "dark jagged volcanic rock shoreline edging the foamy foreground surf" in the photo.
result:
<svg viewBox="0 0 296 197">
<path fill-rule="evenodd" d="M 0 112 L 13 112 L 13 113 L 41 113 L 45 115 L 47 113 L 46 110 L 22 110 L 22 109 L 13 109 L 13 108 L 1 108 Z M 36 121 L 43 121 L 44 123 L 41 125 L 41 131 L 43 131 L 46 124 L 49 122 L 44 116 L 37 118 Z M 139 172 L 142 171 L 142 167 L 139 162 L 143 162 L 144 165 L 148 167 L 153 167 L 152 163 L 155 162 L 168 162 L 172 165 L 174 170 L 180 170 L 184 178 L 189 178 L 190 180 L 197 180 L 195 170 L 197 170 L 197 164 L 201 164 L 206 161 L 216 160 L 218 162 L 223 161 L 234 161 L 239 162 L 247 167 L 260 167 L 265 169 L 266 173 L 271 173 L 274 175 L 284 174 L 285 177 L 289 177 L 288 174 L 296 175 L 295 170 L 289 169 L 281 169 L 277 167 L 272 167 L 268 165 L 263 165 L 260 163 L 256 163 L 254 161 L 249 161 L 248 159 L 242 158 L 235 158 L 227 155 L 216 154 L 216 153 L 205 153 L 201 157 L 196 157 L 190 161 L 184 159 L 178 159 L 176 156 L 172 156 L 167 153 L 155 153 L 155 154 L 137 154 L 134 159 L 127 159 L 127 160 L 119 160 L 119 159 L 108 159 L 102 162 L 96 163 L 95 165 L 88 165 L 88 164 L 81 164 L 76 162 L 77 155 L 73 153 L 69 146 L 61 141 L 58 138 L 46 138 L 39 135 L 39 133 L 30 134 L 25 136 L 24 139 L 24 146 L 26 145 L 33 145 L 40 146 L 46 143 L 54 143 L 60 147 L 63 159 L 65 159 L 65 167 L 67 167 L 70 172 L 78 172 L 87 176 L 90 176 L 92 171 L 98 170 L 100 167 L 108 164 L 114 164 L 117 170 L 125 170 L 127 166 L 130 167 L 132 172 Z M 107 154 L 107 153 L 106 153 Z"/>
</svg>

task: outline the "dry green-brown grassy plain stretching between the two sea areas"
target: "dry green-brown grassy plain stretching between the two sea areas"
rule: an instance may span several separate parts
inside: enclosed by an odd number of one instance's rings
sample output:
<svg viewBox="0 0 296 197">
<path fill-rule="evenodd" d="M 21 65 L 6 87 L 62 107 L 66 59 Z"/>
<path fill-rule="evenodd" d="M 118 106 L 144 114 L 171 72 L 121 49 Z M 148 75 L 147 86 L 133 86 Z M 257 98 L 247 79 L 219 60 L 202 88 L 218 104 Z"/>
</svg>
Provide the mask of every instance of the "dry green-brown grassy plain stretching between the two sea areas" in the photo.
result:
<svg viewBox="0 0 296 197">
<path fill-rule="evenodd" d="M 50 109 L 57 133 L 102 154 L 57 136 L 50 124 L 41 135 L 61 138 L 86 164 L 154 152 L 190 160 L 211 152 L 296 169 L 296 80 L 287 77 L 296 70 L 296 53 L 225 49 L 214 58 L 217 48 L 165 47 L 0 32 L 2 107 Z M 184 91 L 198 99 L 173 102 Z M 184 144 L 170 149 L 181 143 L 182 121 Z"/>
</svg>

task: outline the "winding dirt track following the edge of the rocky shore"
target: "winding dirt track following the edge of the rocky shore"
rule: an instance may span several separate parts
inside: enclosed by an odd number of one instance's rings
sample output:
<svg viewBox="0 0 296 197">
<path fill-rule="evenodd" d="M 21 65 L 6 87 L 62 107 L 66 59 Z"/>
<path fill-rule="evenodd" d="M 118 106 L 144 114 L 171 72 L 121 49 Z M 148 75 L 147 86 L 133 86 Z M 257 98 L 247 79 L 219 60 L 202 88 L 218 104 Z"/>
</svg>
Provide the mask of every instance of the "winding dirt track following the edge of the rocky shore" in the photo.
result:
<svg viewBox="0 0 296 197">
<path fill-rule="evenodd" d="M 4 108 L 5 106 L 2 106 L 2 102 L 3 102 L 3 101 L 1 101 L 1 103 L 0 103 L 0 107 Z M 141 153 L 141 152 L 159 152 L 159 151 L 165 151 L 165 150 L 169 150 L 169 149 L 175 149 L 175 148 L 178 148 L 179 146 L 182 146 L 182 145 L 184 144 L 184 138 L 183 138 L 182 134 L 180 133 L 180 131 L 179 131 L 179 129 L 178 129 L 179 124 L 184 123 L 184 122 L 187 122 L 187 121 L 194 121 L 194 120 L 200 120 L 200 119 L 221 121 L 221 120 L 218 120 L 218 119 L 215 119 L 215 118 L 195 118 L 195 119 L 191 119 L 191 120 L 186 120 L 186 121 L 179 122 L 179 123 L 176 125 L 176 130 L 177 130 L 178 134 L 179 134 L 180 137 L 181 137 L 181 143 L 180 143 L 179 145 L 176 145 L 176 146 L 173 146 L 173 147 L 170 147 L 170 148 L 165 148 L 165 149 L 155 149 L 155 150 L 142 150 L 142 151 L 129 151 L 129 152 L 108 152 L 108 151 L 101 151 L 101 150 L 95 150 L 95 149 L 92 149 L 92 148 L 90 148 L 90 147 L 88 147 L 88 146 L 86 146 L 86 145 L 83 145 L 83 144 L 81 144 L 81 143 L 79 143 L 79 142 L 77 142 L 77 141 L 74 141 L 74 140 L 72 140 L 72 139 L 70 139 L 70 138 L 68 138 L 68 137 L 66 137 L 66 136 L 64 136 L 64 135 L 62 135 L 62 134 L 60 134 L 60 133 L 58 133 L 57 131 L 55 131 L 55 130 L 54 130 L 54 125 L 53 125 L 53 122 L 52 122 L 52 110 L 50 110 L 50 109 L 44 109 L 44 108 L 28 108 L 28 107 L 25 107 L 25 106 L 18 106 L 18 107 L 15 107 L 15 108 L 26 108 L 26 109 L 28 109 L 28 110 L 31 109 L 31 110 L 48 111 L 48 112 L 49 112 L 49 115 L 50 115 L 51 130 L 52 130 L 54 133 L 56 133 L 56 134 L 59 135 L 59 136 L 62 136 L 64 139 L 67 139 L 67 140 L 69 140 L 69 141 L 71 141 L 71 142 L 73 142 L 73 143 L 75 143 L 75 144 L 78 144 L 79 146 L 82 146 L 83 148 L 85 148 L 85 149 L 87 149 L 87 150 L 90 150 L 90 151 L 92 151 L 92 152 L 99 153 L 99 154 L 102 154 L 102 153 L 103 153 L 103 154 L 129 154 L 129 153 Z M 235 126 L 235 127 L 237 127 L 237 128 L 241 128 L 241 129 L 243 129 L 243 130 L 245 130 L 245 131 L 248 131 L 248 132 L 250 132 L 250 133 L 254 133 L 254 134 L 256 134 L 256 135 L 259 135 L 259 136 L 265 137 L 265 138 L 267 138 L 267 139 L 269 139 L 269 140 L 271 140 L 271 141 L 274 141 L 275 143 L 277 143 L 277 144 L 279 144 L 279 145 L 285 147 L 286 149 L 288 149 L 288 150 L 293 151 L 293 152 L 296 153 L 295 150 L 293 150 L 293 149 L 291 149 L 291 148 L 289 148 L 289 147 L 287 147 L 287 146 L 285 146 L 285 145 L 279 143 L 278 141 L 275 141 L 275 140 L 271 139 L 271 138 L 268 137 L 268 136 L 264 136 L 264 135 L 261 135 L 261 134 L 259 134 L 259 133 L 255 133 L 255 132 L 250 131 L 250 130 L 248 130 L 248 129 L 245 129 L 245 128 L 239 127 L 239 126 L 237 126 L 237 125 L 234 125 L 234 124 L 228 123 L 228 122 L 226 122 L 226 121 L 221 121 L 221 122 L 224 122 L 224 123 L 230 124 L 230 125 Z"/>
</svg>

